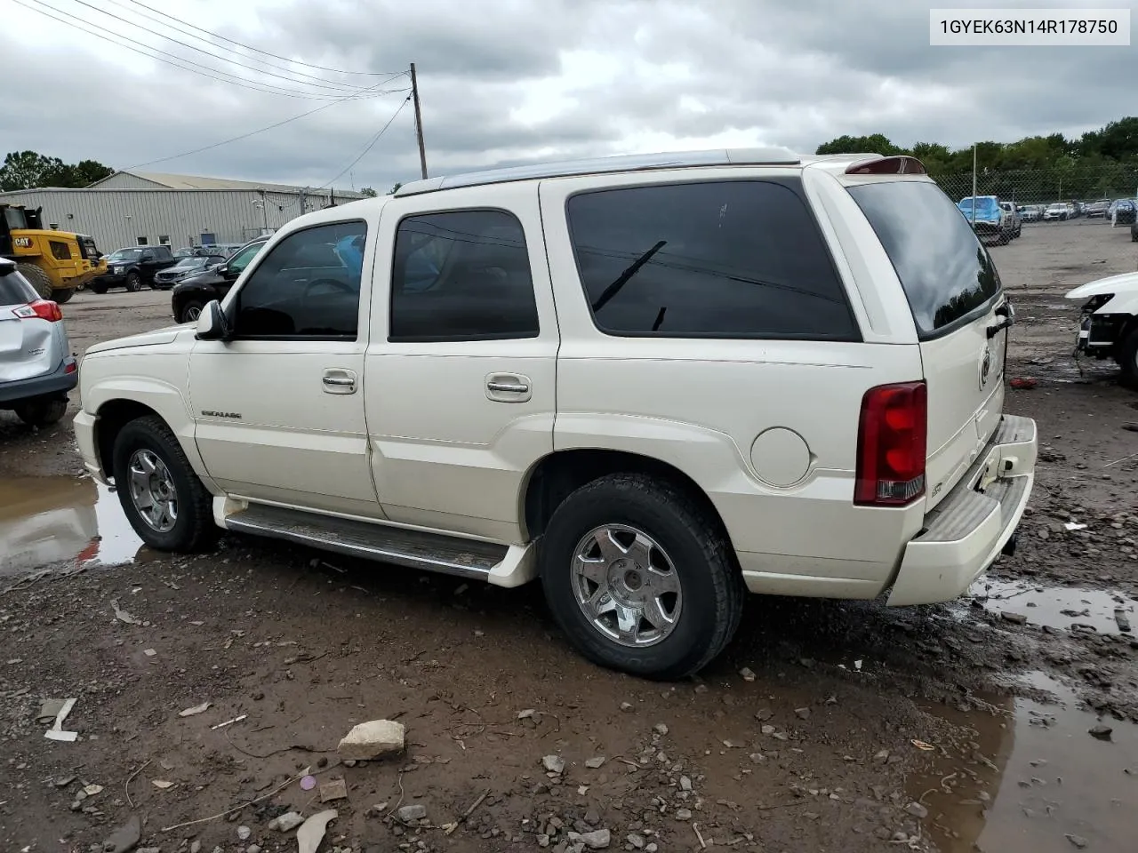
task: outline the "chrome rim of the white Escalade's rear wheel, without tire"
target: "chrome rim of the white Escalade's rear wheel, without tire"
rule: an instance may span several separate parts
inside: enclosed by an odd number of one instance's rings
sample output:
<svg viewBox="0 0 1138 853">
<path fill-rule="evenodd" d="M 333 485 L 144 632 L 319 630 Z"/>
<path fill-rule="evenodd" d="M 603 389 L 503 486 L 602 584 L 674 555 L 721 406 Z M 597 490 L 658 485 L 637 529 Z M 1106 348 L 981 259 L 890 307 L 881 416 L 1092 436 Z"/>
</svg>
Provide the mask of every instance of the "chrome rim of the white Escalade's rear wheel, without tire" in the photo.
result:
<svg viewBox="0 0 1138 853">
<path fill-rule="evenodd" d="M 574 550 L 572 590 L 589 624 L 621 646 L 653 646 L 679 623 L 675 563 L 636 528 L 604 524 L 583 536 Z"/>
</svg>

